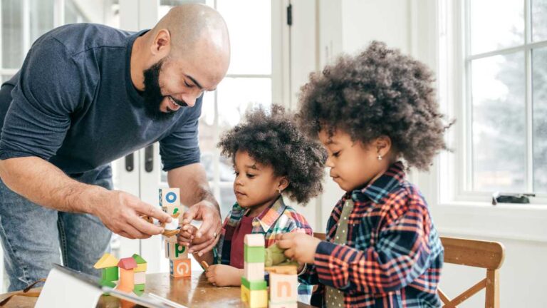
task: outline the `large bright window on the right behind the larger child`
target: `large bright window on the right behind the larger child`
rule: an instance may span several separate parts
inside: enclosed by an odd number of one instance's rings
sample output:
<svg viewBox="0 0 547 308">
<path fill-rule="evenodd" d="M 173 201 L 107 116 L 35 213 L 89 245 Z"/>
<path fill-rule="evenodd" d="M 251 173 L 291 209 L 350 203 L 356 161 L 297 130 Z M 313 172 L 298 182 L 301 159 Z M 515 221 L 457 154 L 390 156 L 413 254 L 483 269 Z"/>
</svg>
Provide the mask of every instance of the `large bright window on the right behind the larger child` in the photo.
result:
<svg viewBox="0 0 547 308">
<path fill-rule="evenodd" d="M 463 193 L 547 193 L 547 0 L 462 2 Z"/>
</svg>

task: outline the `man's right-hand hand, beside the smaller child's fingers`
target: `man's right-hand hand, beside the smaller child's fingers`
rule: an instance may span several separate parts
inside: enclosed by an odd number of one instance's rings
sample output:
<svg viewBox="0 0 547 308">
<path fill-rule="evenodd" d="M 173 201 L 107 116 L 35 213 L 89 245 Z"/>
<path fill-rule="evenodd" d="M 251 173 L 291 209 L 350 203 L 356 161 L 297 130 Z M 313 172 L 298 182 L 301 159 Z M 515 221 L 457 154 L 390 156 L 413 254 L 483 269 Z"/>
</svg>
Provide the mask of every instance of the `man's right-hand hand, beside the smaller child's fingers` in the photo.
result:
<svg viewBox="0 0 547 308">
<path fill-rule="evenodd" d="M 205 252 L 212 250 L 214 245 L 217 245 L 222 229 L 220 221 L 220 212 L 213 202 L 202 200 L 195 205 L 192 205 L 187 212 L 182 216 L 181 233 L 190 230 L 192 220 L 202 220 L 203 223 L 194 235 L 194 240 L 188 252 L 198 252 L 198 255 L 203 255 Z"/>
</svg>

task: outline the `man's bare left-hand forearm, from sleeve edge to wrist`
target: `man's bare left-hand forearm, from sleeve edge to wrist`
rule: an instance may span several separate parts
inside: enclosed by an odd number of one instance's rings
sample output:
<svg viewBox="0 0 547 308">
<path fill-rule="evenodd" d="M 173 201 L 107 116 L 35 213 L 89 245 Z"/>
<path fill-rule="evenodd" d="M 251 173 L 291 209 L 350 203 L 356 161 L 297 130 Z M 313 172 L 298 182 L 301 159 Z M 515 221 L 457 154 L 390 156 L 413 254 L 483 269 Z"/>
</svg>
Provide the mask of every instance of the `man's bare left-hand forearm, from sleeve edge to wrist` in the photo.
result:
<svg viewBox="0 0 547 308">
<path fill-rule="evenodd" d="M 105 188 L 80 183 L 37 157 L 0 160 L 0 178 L 11 190 L 32 202 L 63 212 L 90 213 L 90 198 Z"/>
</svg>

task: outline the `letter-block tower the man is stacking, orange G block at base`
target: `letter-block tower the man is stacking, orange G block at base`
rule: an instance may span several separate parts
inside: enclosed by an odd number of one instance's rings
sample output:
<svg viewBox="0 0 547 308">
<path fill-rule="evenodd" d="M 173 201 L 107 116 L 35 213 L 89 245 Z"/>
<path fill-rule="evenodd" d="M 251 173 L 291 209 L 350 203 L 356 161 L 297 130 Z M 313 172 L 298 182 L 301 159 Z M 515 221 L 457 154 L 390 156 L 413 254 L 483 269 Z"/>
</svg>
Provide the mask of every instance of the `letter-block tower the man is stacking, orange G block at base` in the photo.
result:
<svg viewBox="0 0 547 308">
<path fill-rule="evenodd" d="M 192 262 L 188 257 L 187 249 L 177 243 L 176 230 L 180 227 L 182 217 L 179 194 L 179 188 L 160 188 L 160 207 L 173 219 L 170 224 L 165 225 L 166 232 L 173 235 L 164 235 L 162 238 L 165 242 L 165 257 L 169 259 L 169 271 L 174 278 L 188 277 L 192 274 Z"/>
</svg>

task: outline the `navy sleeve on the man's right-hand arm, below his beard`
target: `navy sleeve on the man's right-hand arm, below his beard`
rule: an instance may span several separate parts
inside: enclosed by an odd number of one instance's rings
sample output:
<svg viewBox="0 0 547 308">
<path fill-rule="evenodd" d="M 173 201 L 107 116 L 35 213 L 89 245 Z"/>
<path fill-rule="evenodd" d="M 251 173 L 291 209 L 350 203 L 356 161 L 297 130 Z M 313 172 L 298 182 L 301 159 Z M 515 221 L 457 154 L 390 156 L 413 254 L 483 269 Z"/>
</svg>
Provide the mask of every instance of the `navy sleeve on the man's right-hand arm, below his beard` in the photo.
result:
<svg viewBox="0 0 547 308">
<path fill-rule="evenodd" d="M 160 140 L 163 170 L 169 171 L 192 163 L 199 163 L 198 125 L 202 114 L 203 96 L 188 109 L 185 120 L 180 121 L 169 135 Z"/>
</svg>

